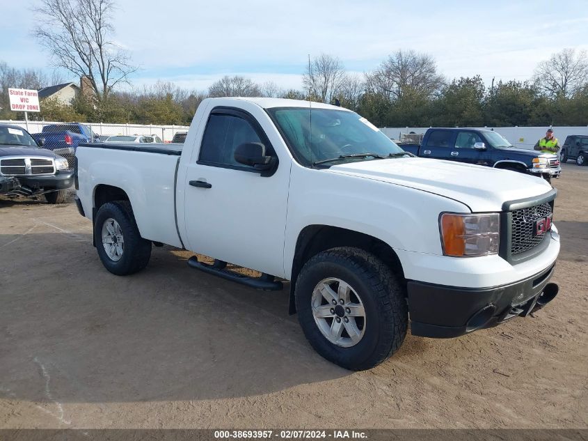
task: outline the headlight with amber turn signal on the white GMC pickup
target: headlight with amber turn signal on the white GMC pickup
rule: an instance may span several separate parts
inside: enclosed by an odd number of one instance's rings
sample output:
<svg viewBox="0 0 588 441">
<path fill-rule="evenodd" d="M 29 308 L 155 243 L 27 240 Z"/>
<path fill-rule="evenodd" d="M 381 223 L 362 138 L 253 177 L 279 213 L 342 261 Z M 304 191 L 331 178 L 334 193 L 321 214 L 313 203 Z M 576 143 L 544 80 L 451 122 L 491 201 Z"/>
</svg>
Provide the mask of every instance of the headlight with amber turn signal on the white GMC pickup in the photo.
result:
<svg viewBox="0 0 588 441">
<path fill-rule="evenodd" d="M 443 254 L 453 257 L 498 254 L 500 215 L 443 213 L 439 219 Z"/>
</svg>

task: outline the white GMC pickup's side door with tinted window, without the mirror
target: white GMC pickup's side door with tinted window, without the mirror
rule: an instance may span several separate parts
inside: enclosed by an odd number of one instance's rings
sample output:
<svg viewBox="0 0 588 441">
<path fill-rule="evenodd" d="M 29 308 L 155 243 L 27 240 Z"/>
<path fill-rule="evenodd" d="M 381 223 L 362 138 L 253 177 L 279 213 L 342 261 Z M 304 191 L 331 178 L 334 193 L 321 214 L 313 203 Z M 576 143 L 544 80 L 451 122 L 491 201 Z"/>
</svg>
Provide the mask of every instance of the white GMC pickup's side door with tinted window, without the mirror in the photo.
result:
<svg viewBox="0 0 588 441">
<path fill-rule="evenodd" d="M 186 246 L 283 277 L 289 164 L 278 164 L 273 175 L 260 176 L 235 161 L 235 148 L 248 142 L 261 142 L 266 155 L 276 155 L 251 114 L 227 107 L 212 110 L 198 158 L 192 157 L 186 169 Z"/>
</svg>

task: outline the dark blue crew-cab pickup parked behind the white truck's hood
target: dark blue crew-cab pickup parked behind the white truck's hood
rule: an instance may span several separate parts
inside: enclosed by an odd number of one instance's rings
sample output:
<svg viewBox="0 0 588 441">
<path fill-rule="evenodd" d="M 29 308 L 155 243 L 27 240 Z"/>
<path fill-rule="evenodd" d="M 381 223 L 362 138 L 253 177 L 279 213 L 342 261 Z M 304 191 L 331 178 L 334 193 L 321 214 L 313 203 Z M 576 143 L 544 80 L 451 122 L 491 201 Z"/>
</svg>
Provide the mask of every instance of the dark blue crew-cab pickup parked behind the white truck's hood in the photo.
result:
<svg viewBox="0 0 588 441">
<path fill-rule="evenodd" d="M 424 134 L 422 144 L 399 146 L 420 157 L 533 173 L 547 180 L 559 177 L 562 170 L 557 155 L 514 148 L 493 130 L 431 128 Z"/>
</svg>

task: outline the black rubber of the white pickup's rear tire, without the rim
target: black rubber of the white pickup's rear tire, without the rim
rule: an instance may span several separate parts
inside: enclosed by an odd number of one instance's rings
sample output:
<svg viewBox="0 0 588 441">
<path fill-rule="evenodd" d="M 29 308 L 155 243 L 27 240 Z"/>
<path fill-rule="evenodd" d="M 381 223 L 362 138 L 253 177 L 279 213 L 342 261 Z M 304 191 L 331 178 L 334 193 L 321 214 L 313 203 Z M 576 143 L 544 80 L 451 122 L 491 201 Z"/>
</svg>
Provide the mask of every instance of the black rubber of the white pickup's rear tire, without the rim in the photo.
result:
<svg viewBox="0 0 588 441">
<path fill-rule="evenodd" d="M 120 260 L 115 261 L 106 253 L 102 243 L 102 227 L 107 219 L 114 219 L 120 226 L 124 247 Z M 105 203 L 96 214 L 94 241 L 98 256 L 106 270 L 118 276 L 126 276 L 143 270 L 151 257 L 151 241 L 141 238 L 131 204 L 128 201 Z"/>
</svg>

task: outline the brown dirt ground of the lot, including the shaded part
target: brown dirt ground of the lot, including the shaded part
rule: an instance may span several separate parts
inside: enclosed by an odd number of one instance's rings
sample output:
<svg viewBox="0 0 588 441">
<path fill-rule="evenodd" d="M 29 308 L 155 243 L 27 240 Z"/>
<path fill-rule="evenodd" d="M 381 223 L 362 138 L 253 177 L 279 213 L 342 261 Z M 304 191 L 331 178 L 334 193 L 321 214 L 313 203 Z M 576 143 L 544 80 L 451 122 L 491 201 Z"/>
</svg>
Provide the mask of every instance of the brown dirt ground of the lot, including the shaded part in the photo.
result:
<svg viewBox="0 0 588 441">
<path fill-rule="evenodd" d="M 288 291 L 154 248 L 102 267 L 72 203 L 0 201 L 0 428 L 587 428 L 588 167 L 555 180 L 557 299 L 457 339 L 408 335 L 376 369 L 319 357 Z"/>
</svg>

